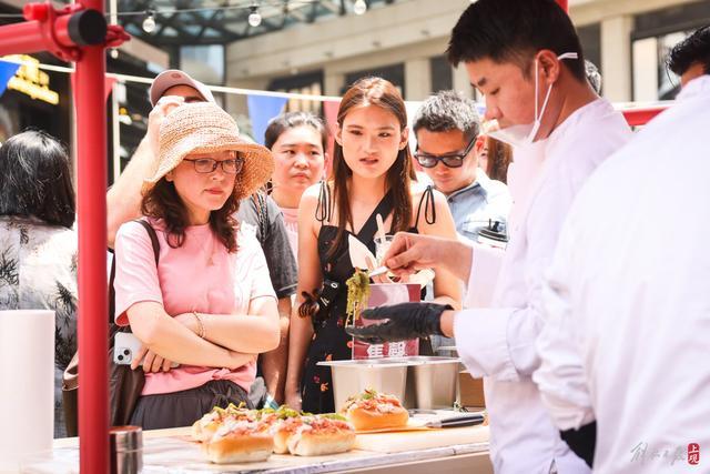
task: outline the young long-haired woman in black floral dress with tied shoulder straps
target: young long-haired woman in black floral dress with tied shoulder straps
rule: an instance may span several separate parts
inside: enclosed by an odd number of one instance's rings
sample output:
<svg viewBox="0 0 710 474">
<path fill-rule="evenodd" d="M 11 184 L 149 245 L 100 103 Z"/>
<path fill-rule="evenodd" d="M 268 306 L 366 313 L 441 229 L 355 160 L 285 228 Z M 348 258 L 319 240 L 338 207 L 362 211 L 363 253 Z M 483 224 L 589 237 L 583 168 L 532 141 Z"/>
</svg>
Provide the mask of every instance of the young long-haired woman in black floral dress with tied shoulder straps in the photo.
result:
<svg viewBox="0 0 710 474">
<path fill-rule="evenodd" d="M 331 369 L 317 363 L 352 357 L 344 330 L 345 281 L 354 272 L 348 235 L 374 253 L 379 213 L 388 233 L 456 236 L 446 200 L 414 181 L 404 100 L 392 83 L 357 81 L 341 101 L 337 122 L 332 177 L 310 188 L 298 208 L 298 301 L 291 319 L 286 403 L 314 413 L 338 409 Z M 438 274 L 434 293 L 438 302 L 460 306 L 453 275 Z"/>
</svg>

